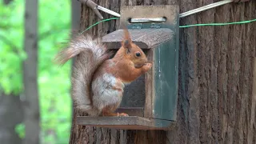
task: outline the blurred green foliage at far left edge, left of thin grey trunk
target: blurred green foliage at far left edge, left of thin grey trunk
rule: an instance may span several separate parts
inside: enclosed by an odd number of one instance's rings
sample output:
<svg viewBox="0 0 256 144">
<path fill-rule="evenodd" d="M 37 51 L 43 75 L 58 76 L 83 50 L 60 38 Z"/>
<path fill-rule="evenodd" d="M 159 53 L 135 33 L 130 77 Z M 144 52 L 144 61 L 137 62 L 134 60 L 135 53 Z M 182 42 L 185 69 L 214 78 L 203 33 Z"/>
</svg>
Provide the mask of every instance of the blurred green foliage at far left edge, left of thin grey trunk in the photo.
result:
<svg viewBox="0 0 256 144">
<path fill-rule="evenodd" d="M 22 50 L 24 2 L 0 3 L 0 86 L 6 94 L 22 90 Z"/>
</svg>

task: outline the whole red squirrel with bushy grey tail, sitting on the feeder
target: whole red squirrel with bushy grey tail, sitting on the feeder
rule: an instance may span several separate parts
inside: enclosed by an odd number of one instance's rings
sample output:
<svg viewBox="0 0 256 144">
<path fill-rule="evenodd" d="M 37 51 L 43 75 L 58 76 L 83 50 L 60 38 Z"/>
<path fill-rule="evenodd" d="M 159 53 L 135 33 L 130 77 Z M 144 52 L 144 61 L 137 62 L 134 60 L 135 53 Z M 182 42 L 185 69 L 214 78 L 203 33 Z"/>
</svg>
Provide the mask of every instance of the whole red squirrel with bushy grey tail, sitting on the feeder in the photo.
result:
<svg viewBox="0 0 256 144">
<path fill-rule="evenodd" d="M 110 58 L 100 38 L 78 35 L 70 46 L 60 51 L 57 62 L 62 65 L 74 60 L 72 73 L 72 99 L 74 107 L 90 116 L 128 116 L 114 111 L 122 102 L 123 89 L 152 67 L 146 54 L 134 44 L 128 30 L 124 30 L 122 46 Z"/>
</svg>

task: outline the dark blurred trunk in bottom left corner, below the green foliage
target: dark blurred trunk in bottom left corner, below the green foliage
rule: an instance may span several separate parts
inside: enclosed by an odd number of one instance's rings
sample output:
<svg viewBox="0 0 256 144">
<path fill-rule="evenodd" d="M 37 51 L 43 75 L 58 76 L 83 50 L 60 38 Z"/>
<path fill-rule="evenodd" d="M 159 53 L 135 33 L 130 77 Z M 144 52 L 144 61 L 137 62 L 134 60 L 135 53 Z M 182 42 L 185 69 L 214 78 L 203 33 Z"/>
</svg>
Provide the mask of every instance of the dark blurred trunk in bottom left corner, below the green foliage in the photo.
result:
<svg viewBox="0 0 256 144">
<path fill-rule="evenodd" d="M 0 142 L 2 144 L 21 144 L 15 126 L 22 122 L 22 105 L 19 97 L 0 93 Z"/>
</svg>

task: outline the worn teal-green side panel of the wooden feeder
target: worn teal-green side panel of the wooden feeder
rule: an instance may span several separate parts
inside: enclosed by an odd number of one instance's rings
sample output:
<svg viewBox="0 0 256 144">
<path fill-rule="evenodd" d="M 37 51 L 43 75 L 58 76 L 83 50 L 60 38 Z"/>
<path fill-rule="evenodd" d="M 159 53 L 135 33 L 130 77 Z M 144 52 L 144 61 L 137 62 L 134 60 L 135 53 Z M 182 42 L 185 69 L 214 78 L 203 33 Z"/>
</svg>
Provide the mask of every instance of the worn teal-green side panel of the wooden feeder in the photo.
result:
<svg viewBox="0 0 256 144">
<path fill-rule="evenodd" d="M 176 121 L 178 99 L 178 44 L 170 40 L 154 49 L 153 118 Z"/>
</svg>

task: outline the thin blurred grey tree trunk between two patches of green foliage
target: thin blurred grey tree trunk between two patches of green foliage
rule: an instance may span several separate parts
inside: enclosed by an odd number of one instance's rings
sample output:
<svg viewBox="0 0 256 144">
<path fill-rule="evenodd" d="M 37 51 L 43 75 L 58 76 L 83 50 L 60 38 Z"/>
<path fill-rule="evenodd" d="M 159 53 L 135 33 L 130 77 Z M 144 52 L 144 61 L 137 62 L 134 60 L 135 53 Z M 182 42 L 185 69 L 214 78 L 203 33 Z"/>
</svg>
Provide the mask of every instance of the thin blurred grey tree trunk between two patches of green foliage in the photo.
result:
<svg viewBox="0 0 256 144">
<path fill-rule="evenodd" d="M 38 0 L 26 1 L 25 45 L 27 58 L 23 63 L 23 82 L 25 89 L 24 122 L 25 143 L 39 143 L 39 105 L 38 105 Z"/>
</svg>

